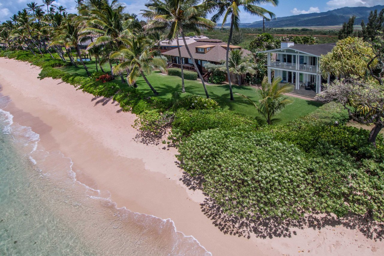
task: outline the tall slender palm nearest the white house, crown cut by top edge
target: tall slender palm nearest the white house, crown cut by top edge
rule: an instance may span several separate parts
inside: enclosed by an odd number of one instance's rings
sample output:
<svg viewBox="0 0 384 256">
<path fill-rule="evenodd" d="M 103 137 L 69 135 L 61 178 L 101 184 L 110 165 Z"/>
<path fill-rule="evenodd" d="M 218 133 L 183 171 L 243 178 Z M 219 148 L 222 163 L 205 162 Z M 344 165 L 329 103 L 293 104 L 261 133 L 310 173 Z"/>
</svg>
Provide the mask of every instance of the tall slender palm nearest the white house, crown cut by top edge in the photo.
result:
<svg viewBox="0 0 384 256">
<path fill-rule="evenodd" d="M 239 29 L 241 12 L 240 7 L 243 7 L 243 10 L 251 15 L 266 18 L 266 15 L 268 14 L 271 18 L 273 18 L 275 16 L 274 13 L 258 6 L 268 3 L 272 4 L 273 6 L 276 6 L 278 4 L 278 0 L 204 0 L 203 5 L 205 6 L 205 8 L 207 8 L 207 10 L 210 10 L 210 12 L 217 11 L 214 16 L 212 16 L 212 21 L 217 22 L 223 17 L 223 27 L 224 24 L 227 22 L 228 18 L 231 19 L 231 26 L 227 43 L 227 54 L 225 59 L 231 101 L 233 101 L 234 98 L 228 63 L 230 51 L 229 45 L 230 41 L 232 40 L 233 28 L 235 28 L 235 30 Z"/>
</svg>

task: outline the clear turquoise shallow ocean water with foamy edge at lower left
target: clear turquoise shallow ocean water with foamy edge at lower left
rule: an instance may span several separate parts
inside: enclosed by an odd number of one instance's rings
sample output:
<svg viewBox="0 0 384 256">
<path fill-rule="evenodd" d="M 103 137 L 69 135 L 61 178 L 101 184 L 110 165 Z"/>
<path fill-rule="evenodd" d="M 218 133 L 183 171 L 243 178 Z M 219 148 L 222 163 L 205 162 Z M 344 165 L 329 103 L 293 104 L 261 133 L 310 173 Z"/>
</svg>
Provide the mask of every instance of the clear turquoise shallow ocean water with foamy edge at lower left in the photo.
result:
<svg viewBox="0 0 384 256">
<path fill-rule="evenodd" d="M 76 181 L 71 159 L 39 149 L 0 95 L 0 255 L 210 255 L 173 221 L 116 208 Z"/>
</svg>

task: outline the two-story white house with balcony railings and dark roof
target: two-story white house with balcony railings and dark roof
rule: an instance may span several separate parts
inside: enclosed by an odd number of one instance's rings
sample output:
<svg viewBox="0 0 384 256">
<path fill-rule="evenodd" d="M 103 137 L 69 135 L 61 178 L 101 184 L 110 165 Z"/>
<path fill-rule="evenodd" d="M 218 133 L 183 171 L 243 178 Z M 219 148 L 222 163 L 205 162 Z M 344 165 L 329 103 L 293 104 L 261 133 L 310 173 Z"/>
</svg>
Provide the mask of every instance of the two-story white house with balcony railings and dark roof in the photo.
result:
<svg viewBox="0 0 384 256">
<path fill-rule="evenodd" d="M 320 56 L 329 53 L 336 43 L 319 45 L 295 45 L 293 42 L 281 42 L 281 48 L 261 51 L 267 54 L 268 82 L 271 83 L 271 74 L 281 76 L 283 82 L 295 85 L 295 90 L 311 88 L 316 93 L 321 92 Z M 331 77 L 324 83 L 328 83 Z"/>
</svg>

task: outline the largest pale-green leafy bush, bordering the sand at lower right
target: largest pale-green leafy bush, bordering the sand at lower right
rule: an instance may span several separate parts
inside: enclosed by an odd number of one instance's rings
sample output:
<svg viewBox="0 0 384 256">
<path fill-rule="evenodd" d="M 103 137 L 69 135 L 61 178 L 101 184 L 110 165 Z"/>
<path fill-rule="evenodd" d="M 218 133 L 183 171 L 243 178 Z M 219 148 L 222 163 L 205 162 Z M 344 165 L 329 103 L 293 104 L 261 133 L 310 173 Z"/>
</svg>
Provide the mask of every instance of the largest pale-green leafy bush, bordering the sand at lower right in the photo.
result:
<svg viewBox="0 0 384 256">
<path fill-rule="evenodd" d="M 227 215 L 286 219 L 352 212 L 383 221 L 382 161 L 361 164 L 336 148 L 329 153 L 308 154 L 273 134 L 235 128 L 192 134 L 179 144 L 177 158 Z"/>
</svg>

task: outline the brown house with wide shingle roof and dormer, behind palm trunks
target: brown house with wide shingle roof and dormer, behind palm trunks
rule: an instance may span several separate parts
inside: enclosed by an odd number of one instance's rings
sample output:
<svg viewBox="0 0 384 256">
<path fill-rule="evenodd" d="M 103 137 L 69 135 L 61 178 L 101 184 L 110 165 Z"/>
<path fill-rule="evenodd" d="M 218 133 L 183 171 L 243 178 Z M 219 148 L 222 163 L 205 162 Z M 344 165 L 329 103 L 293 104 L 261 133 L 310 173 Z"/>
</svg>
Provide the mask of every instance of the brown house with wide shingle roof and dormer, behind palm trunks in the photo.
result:
<svg viewBox="0 0 384 256">
<path fill-rule="evenodd" d="M 248 50 L 242 49 L 240 46 L 230 45 L 230 50 L 239 49 L 242 50 L 243 56 L 250 54 Z M 188 45 L 189 50 L 192 53 L 195 63 L 202 74 L 207 74 L 205 70 L 206 63 L 220 64 L 220 61 L 225 60 L 227 52 L 227 43 L 219 39 L 199 38 L 195 39 L 195 42 Z M 177 47 L 162 53 L 163 55 L 171 57 L 171 63 L 168 68 L 183 68 L 190 71 L 196 71 L 192 60 L 189 58 L 187 49 L 184 46 L 180 46 L 181 59 L 179 57 L 179 51 Z"/>
</svg>

